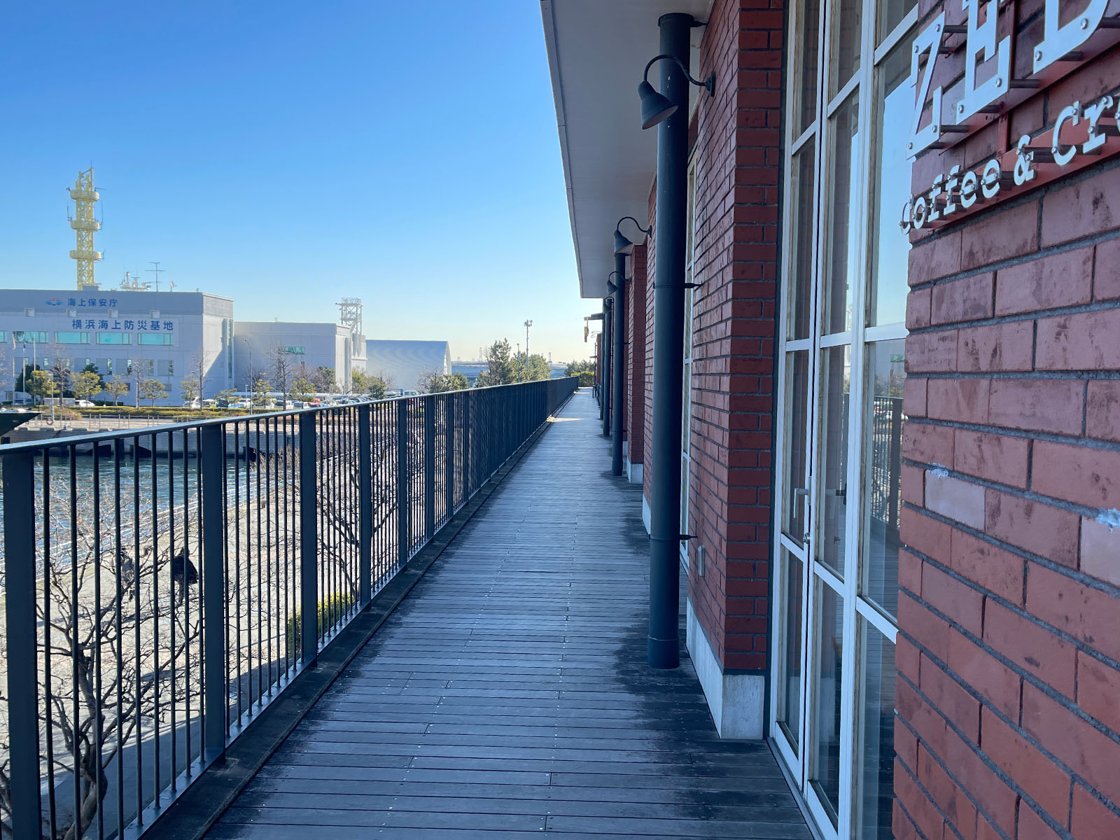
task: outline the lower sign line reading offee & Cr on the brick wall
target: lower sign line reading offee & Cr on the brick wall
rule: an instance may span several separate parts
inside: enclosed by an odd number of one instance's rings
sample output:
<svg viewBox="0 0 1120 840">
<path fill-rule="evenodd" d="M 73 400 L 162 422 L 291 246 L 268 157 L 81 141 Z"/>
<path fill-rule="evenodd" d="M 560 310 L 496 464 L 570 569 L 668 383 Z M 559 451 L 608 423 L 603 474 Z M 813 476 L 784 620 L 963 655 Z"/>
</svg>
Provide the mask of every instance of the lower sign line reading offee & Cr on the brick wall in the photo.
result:
<svg viewBox="0 0 1120 840">
<path fill-rule="evenodd" d="M 940 227 L 987 204 L 1010 198 L 1120 151 L 1120 91 L 1062 109 L 1052 128 L 1036 138 L 1024 134 L 1015 148 L 962 169 L 952 167 L 930 189 L 903 205 L 903 233 Z"/>
</svg>

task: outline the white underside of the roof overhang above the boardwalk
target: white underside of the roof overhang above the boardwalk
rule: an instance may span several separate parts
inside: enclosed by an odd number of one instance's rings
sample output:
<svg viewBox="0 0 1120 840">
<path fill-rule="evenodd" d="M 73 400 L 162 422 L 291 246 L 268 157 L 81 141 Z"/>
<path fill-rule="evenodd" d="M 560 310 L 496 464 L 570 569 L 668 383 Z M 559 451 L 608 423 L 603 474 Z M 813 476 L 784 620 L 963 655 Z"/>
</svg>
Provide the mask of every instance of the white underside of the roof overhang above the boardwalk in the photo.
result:
<svg viewBox="0 0 1120 840">
<path fill-rule="evenodd" d="M 643 222 L 657 166 L 657 131 L 643 131 L 637 85 L 657 54 L 657 18 L 688 12 L 707 22 L 713 0 L 541 0 L 552 95 L 560 130 L 568 214 L 579 291 L 607 293 L 614 230 L 622 216 Z M 692 30 L 699 46 L 702 28 Z M 692 75 L 698 53 L 692 52 Z M 656 65 L 650 77 L 656 86 Z M 693 102 L 696 91 L 693 88 Z M 627 222 L 623 233 L 642 234 Z"/>
</svg>

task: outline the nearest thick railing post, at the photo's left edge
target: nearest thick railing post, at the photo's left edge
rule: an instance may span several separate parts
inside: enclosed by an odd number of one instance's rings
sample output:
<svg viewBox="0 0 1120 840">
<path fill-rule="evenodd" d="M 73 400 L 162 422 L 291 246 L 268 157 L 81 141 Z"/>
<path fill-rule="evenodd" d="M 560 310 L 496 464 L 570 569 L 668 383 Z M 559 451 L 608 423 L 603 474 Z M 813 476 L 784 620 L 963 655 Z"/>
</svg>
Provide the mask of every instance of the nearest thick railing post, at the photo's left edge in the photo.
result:
<svg viewBox="0 0 1120 840">
<path fill-rule="evenodd" d="M 35 457 L 3 458 L 4 624 L 11 837 L 39 840 L 39 716 L 35 615 Z"/>
</svg>

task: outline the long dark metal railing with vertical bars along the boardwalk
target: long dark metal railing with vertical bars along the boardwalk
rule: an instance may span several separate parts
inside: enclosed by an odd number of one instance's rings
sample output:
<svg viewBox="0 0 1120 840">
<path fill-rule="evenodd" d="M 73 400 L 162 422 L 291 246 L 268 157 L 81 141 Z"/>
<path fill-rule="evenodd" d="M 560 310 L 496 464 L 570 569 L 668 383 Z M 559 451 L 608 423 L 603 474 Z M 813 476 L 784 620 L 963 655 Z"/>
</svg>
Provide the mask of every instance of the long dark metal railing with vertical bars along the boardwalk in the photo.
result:
<svg viewBox="0 0 1120 840">
<path fill-rule="evenodd" d="M 577 382 L 0 447 L 0 834 L 142 833 Z"/>
</svg>

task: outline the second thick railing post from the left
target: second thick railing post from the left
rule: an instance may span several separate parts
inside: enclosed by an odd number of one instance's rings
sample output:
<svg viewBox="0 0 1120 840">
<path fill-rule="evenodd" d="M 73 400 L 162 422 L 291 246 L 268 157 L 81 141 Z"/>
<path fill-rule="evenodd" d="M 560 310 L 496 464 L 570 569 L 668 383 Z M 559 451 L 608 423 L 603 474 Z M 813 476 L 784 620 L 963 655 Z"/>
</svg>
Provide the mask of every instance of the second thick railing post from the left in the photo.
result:
<svg viewBox="0 0 1120 840">
<path fill-rule="evenodd" d="M 225 758 L 228 717 L 225 620 L 225 438 L 221 426 L 198 430 L 203 538 L 203 738 L 206 762 Z"/>
</svg>

